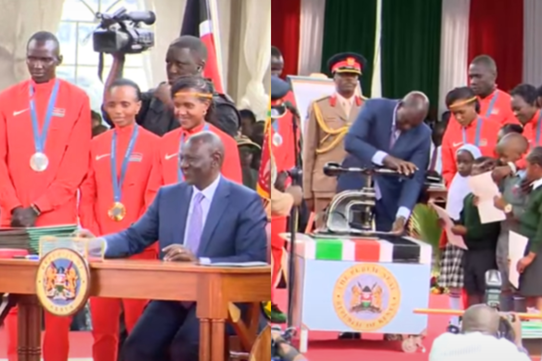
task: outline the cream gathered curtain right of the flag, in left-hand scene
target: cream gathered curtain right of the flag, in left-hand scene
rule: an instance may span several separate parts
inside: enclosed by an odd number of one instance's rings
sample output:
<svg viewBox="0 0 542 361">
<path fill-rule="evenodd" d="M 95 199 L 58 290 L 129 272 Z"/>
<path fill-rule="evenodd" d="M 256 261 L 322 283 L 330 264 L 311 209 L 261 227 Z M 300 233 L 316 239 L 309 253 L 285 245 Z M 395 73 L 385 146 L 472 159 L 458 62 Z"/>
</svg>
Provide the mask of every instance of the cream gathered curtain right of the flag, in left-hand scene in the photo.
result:
<svg viewBox="0 0 542 361">
<path fill-rule="evenodd" d="M 247 31 L 244 35 L 244 59 L 250 80 L 240 108 L 254 112 L 256 119 L 265 119 L 268 96 L 263 85 L 271 60 L 271 0 L 246 0 Z"/>
</svg>

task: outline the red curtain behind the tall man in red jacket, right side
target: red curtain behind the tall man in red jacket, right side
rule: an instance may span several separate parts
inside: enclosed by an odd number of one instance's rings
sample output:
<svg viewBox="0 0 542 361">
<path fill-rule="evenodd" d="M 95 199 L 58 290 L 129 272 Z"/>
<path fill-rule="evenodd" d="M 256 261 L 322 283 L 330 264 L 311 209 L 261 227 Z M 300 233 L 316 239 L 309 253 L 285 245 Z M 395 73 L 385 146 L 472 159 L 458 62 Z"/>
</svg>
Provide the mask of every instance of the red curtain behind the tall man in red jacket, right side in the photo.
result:
<svg viewBox="0 0 542 361">
<path fill-rule="evenodd" d="M 470 0 L 469 62 L 482 54 L 497 63 L 501 90 L 521 83 L 523 0 Z"/>
</svg>

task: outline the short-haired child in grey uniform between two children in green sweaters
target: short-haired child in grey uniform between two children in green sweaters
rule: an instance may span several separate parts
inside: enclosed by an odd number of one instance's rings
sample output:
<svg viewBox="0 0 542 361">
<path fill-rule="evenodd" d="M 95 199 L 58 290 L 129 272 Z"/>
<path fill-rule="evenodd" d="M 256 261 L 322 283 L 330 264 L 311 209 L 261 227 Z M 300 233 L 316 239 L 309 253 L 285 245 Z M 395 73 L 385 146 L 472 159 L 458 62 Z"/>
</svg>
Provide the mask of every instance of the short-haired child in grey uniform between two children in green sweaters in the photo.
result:
<svg viewBox="0 0 542 361">
<path fill-rule="evenodd" d="M 515 124 L 512 124 L 515 125 Z M 496 149 L 501 163 L 515 163 L 527 153 L 529 142 L 521 133 L 511 132 L 502 137 Z M 500 310 L 522 311 L 519 305 L 518 293 L 508 280 L 508 236 L 510 231 L 519 232 L 517 221 L 524 212 L 527 196 L 521 190 L 521 182 L 525 176 L 524 170 L 516 171 L 499 182 L 500 197 L 495 197 L 494 205 L 502 211 L 508 211 L 510 216 L 501 222 L 501 233 L 497 241 L 496 261 L 501 273 L 502 288 Z M 509 206 L 507 206 L 509 205 Z M 505 209 L 505 207 L 507 207 Z M 517 300 L 514 306 L 514 298 Z"/>
</svg>

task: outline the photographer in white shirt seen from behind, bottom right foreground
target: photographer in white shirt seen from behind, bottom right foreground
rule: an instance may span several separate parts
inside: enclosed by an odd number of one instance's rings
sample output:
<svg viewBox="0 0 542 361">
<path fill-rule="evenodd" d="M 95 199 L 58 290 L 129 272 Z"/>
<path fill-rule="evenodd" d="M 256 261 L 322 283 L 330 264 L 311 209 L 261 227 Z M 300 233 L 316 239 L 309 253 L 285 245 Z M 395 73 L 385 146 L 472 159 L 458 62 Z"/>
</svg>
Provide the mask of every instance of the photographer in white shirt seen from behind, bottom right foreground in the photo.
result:
<svg viewBox="0 0 542 361">
<path fill-rule="evenodd" d="M 531 359 L 521 344 L 519 317 L 479 304 L 463 314 L 460 334 L 447 332 L 435 339 L 429 361 L 470 361 L 491 356 L 506 361 Z"/>
</svg>

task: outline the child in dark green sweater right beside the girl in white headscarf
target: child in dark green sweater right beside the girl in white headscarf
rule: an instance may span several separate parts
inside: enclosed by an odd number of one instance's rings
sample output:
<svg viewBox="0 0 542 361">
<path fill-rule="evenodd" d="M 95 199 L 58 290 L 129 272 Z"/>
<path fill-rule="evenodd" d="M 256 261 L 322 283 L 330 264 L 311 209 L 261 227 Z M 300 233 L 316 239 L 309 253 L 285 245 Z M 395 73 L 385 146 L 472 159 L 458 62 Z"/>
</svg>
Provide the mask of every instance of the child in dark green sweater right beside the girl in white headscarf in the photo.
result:
<svg viewBox="0 0 542 361">
<path fill-rule="evenodd" d="M 491 172 L 495 167 L 491 157 L 474 160 L 472 175 Z M 496 268 L 495 251 L 500 233 L 500 222 L 482 224 L 475 196 L 469 193 L 463 200 L 463 209 L 451 232 L 463 237 L 467 250 L 463 251 L 463 289 L 468 306 L 483 303 L 486 293 L 486 272 Z"/>
</svg>

